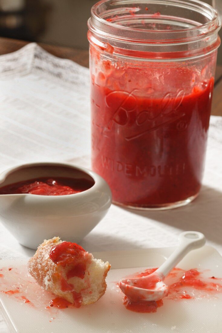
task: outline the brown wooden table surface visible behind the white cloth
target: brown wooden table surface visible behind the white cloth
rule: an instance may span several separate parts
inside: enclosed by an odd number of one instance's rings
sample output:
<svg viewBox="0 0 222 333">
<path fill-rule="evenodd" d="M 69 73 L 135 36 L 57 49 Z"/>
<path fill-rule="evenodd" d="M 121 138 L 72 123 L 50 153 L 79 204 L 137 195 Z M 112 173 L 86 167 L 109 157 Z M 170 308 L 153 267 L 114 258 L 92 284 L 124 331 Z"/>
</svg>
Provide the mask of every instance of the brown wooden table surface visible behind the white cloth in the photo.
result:
<svg viewBox="0 0 222 333">
<path fill-rule="evenodd" d="M 26 44 L 28 44 L 28 42 L 0 37 L 0 55 L 14 52 Z M 39 43 L 39 45 L 57 57 L 71 59 L 82 66 L 89 67 L 89 52 L 87 50 L 78 50 L 70 47 L 61 47 L 42 43 Z M 216 68 L 211 114 L 215 116 L 222 116 L 222 66 L 217 66 Z"/>
</svg>

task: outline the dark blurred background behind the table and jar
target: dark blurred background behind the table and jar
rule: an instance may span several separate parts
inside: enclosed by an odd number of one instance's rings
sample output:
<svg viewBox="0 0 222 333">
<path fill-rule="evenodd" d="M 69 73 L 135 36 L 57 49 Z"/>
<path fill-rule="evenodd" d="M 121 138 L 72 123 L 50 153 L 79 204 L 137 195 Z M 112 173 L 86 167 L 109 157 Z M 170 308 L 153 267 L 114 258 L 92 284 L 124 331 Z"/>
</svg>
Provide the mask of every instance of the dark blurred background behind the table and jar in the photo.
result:
<svg viewBox="0 0 222 333">
<path fill-rule="evenodd" d="M 87 49 L 87 20 L 96 2 L 0 0 L 0 36 Z M 205 2 L 211 4 L 211 0 Z M 218 63 L 222 64 L 222 47 Z"/>
</svg>

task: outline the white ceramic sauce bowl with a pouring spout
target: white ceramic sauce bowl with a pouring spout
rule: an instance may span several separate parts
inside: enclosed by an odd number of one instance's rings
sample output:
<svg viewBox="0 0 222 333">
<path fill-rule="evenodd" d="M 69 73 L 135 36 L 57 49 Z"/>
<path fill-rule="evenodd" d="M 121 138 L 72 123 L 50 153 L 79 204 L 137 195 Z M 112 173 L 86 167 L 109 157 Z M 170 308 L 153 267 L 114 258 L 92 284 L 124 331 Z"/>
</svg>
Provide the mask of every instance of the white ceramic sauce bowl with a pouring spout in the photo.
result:
<svg viewBox="0 0 222 333">
<path fill-rule="evenodd" d="M 1 222 L 20 244 L 36 249 L 54 236 L 79 243 L 106 215 L 111 190 L 97 173 L 64 163 L 32 163 L 0 174 L 0 187 L 38 177 L 86 178 L 94 185 L 68 195 L 1 194 Z"/>
</svg>

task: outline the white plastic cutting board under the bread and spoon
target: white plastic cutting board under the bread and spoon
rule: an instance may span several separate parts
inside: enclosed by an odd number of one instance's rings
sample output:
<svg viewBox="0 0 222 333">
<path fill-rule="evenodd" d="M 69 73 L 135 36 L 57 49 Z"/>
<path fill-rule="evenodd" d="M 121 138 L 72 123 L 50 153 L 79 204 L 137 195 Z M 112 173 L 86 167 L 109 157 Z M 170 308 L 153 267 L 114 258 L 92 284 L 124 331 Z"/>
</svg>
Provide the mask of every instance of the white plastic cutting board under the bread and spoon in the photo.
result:
<svg viewBox="0 0 222 333">
<path fill-rule="evenodd" d="M 27 259 L 2 260 L 0 268 L 10 267 L 16 276 L 11 289 L 15 290 L 19 285 L 22 296 L 39 304 L 36 307 L 32 303 L 24 303 L 21 293 L 8 295 L 0 292 L 4 316 L 11 331 L 20 333 L 221 333 L 222 294 L 180 301 L 166 298 L 156 313 L 134 313 L 122 305 L 122 293 L 116 282 L 128 274 L 144 270 L 144 267 L 159 266 L 172 251 L 172 248 L 155 248 L 94 253 L 96 258 L 109 260 L 112 265 L 105 295 L 95 304 L 65 310 L 45 309 L 55 296 L 33 283 L 26 268 L 21 268 Z M 209 246 L 190 252 L 178 267 L 186 270 L 198 268 L 205 270 L 208 277 L 222 277 L 222 257 Z M 4 268 L 0 271 L 4 272 L 0 280 L 1 290 L 4 290 L 3 279 L 8 283 L 13 276 L 12 270 Z"/>
</svg>

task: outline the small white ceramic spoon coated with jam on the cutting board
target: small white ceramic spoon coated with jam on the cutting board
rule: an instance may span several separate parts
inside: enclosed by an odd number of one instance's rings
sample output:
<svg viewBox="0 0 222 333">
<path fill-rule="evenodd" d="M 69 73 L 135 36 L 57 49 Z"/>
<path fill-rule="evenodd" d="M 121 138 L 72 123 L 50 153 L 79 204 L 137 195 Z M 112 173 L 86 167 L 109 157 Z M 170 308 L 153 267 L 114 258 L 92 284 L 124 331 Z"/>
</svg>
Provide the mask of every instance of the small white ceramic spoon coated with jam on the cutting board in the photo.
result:
<svg viewBox="0 0 222 333">
<path fill-rule="evenodd" d="M 143 277 L 122 279 L 119 287 L 133 302 L 158 301 L 168 295 L 168 286 L 163 282 L 169 272 L 193 249 L 205 244 L 205 236 L 197 231 L 185 231 L 179 235 L 179 245 L 168 259 L 152 274 Z"/>
</svg>

